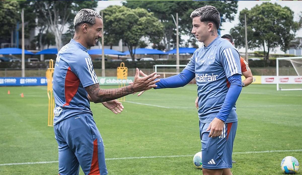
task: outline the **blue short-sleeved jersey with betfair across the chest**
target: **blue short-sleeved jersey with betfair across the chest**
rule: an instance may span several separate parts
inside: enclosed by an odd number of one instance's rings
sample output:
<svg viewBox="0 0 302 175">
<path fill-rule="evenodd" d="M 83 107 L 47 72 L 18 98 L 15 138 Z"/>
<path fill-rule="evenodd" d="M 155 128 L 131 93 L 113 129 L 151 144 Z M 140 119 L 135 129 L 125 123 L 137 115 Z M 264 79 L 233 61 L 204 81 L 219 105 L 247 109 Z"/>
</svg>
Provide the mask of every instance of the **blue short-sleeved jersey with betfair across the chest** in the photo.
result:
<svg viewBox="0 0 302 175">
<path fill-rule="evenodd" d="M 202 123 L 211 122 L 220 111 L 228 92 L 227 78 L 241 74 L 239 52 L 229 41 L 218 36 L 207 47 L 198 48 L 185 69 L 195 72 L 199 119 Z M 236 121 L 234 105 L 226 123 Z"/>
</svg>

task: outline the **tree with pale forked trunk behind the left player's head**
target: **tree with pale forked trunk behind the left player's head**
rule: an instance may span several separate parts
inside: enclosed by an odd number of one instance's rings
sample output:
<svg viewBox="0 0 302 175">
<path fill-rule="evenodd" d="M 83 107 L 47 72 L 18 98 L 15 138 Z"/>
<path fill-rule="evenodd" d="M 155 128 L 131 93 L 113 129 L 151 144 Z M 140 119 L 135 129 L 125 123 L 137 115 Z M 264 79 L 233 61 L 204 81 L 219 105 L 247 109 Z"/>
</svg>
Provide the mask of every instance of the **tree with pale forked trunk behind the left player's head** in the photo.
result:
<svg viewBox="0 0 302 175">
<path fill-rule="evenodd" d="M 58 50 L 62 47 L 64 29 L 73 25 L 76 13 L 81 8 L 94 9 L 97 7 L 97 2 L 95 1 L 27 1 L 23 3 L 34 7 L 32 14 L 37 15 L 37 26 L 40 33 L 49 28 L 55 36 Z M 42 37 L 43 35 L 40 36 Z"/>
</svg>

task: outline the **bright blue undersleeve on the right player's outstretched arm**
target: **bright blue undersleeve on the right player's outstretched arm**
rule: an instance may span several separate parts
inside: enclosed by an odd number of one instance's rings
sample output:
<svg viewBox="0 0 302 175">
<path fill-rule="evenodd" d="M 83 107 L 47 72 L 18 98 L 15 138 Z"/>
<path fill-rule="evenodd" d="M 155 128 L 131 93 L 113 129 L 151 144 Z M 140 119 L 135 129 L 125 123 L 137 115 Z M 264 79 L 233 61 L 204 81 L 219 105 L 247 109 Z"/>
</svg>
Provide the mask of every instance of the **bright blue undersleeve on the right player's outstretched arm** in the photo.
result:
<svg viewBox="0 0 302 175">
<path fill-rule="evenodd" d="M 194 72 L 191 72 L 187 69 L 183 69 L 182 72 L 177 75 L 173 75 L 167 78 L 161 78 L 160 81 L 156 83 L 157 87 L 155 89 L 183 87 L 186 84 L 190 83 L 190 81 L 194 77 Z"/>
</svg>

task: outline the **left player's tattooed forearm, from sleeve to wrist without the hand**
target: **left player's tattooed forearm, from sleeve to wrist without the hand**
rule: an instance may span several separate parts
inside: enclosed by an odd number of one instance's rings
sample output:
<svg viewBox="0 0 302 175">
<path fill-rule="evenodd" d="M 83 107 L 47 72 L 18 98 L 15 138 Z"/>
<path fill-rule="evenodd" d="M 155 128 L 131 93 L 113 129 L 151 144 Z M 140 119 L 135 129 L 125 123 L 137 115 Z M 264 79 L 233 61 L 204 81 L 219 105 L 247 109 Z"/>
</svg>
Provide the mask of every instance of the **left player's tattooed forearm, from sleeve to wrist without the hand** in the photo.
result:
<svg viewBox="0 0 302 175">
<path fill-rule="evenodd" d="M 93 84 L 85 89 L 94 103 L 110 101 L 134 93 L 131 85 L 118 89 L 100 89 L 99 84 Z"/>
</svg>

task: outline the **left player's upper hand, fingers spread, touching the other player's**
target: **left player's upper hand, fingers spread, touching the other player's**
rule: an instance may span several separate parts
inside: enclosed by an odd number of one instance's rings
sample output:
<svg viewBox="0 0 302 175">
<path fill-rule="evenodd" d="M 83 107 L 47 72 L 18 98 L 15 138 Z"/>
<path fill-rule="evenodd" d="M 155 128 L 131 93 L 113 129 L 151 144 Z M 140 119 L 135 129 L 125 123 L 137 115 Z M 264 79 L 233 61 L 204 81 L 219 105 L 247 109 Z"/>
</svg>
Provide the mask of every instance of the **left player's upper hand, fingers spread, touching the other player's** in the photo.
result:
<svg viewBox="0 0 302 175">
<path fill-rule="evenodd" d="M 140 77 L 140 75 L 142 75 L 143 77 Z M 159 79 L 157 79 L 159 77 L 160 75 L 156 75 L 156 72 L 146 75 L 143 73 L 143 71 L 140 71 L 138 68 L 136 68 L 134 81 L 129 84 L 132 86 L 135 92 L 147 91 L 151 88 L 157 87 L 155 83 L 160 81 Z M 141 94 L 142 93 L 140 93 L 139 95 Z"/>
</svg>

